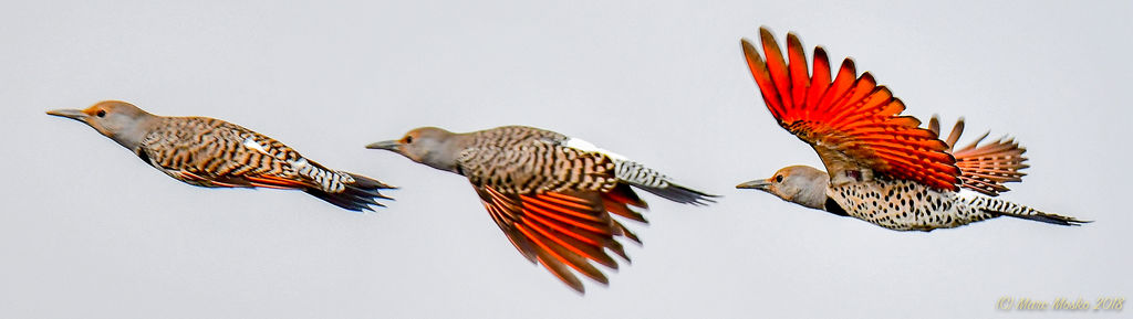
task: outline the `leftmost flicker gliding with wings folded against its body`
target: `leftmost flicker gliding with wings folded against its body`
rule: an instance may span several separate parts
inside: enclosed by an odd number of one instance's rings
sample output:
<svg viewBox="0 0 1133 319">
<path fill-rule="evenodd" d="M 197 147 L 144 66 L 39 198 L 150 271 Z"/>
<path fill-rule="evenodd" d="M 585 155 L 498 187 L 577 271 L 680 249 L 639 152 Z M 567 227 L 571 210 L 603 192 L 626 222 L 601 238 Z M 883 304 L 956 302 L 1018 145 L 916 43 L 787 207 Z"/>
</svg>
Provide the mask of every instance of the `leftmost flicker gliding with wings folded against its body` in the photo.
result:
<svg viewBox="0 0 1133 319">
<path fill-rule="evenodd" d="M 103 101 L 86 110 L 48 114 L 91 126 L 143 162 L 179 181 L 207 188 L 297 189 L 349 210 L 373 210 L 393 187 L 327 169 L 282 143 L 225 121 L 150 114 L 130 103 Z"/>
</svg>

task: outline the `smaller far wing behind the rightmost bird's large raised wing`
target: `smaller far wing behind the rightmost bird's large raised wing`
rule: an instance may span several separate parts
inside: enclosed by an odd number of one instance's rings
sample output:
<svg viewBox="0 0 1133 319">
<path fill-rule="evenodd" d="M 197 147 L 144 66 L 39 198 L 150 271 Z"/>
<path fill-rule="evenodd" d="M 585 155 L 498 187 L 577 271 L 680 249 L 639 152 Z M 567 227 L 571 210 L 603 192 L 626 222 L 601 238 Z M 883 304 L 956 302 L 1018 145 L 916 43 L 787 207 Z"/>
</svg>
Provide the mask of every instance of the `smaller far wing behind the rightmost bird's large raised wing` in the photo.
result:
<svg viewBox="0 0 1133 319">
<path fill-rule="evenodd" d="M 929 130 L 940 133 L 940 122 L 936 115 L 929 120 Z M 952 132 L 945 143 L 948 144 L 948 152 L 956 157 L 956 166 L 960 167 L 961 187 L 981 192 L 987 196 L 998 196 L 1008 191 L 1004 183 L 1019 182 L 1026 173 L 1022 170 L 1030 167 L 1023 162 L 1026 157 L 1026 148 L 1019 145 L 1015 139 L 999 138 L 985 145 L 980 145 L 988 132 L 973 140 L 971 144 L 956 149 L 956 141 L 964 132 L 964 119 L 956 120 Z"/>
</svg>

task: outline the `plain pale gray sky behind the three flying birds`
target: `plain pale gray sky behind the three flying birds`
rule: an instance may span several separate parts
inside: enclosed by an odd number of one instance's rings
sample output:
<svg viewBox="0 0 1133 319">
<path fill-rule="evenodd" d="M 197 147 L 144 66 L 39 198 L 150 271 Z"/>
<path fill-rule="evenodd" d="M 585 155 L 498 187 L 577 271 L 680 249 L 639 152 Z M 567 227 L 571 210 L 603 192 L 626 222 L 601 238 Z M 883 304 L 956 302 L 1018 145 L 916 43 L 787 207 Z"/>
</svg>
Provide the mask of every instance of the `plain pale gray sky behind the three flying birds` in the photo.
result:
<svg viewBox="0 0 1133 319">
<path fill-rule="evenodd" d="M 1133 298 L 1130 1 L 178 2 L 0 5 L 0 318 L 1131 312 L 995 309 Z M 739 38 L 760 25 L 855 58 L 909 114 L 1017 137 L 1033 167 L 1003 198 L 1097 222 L 901 233 L 733 189 L 819 164 L 747 71 Z M 363 215 L 296 191 L 195 188 L 43 114 L 111 98 L 239 123 L 402 189 Z M 516 252 L 462 178 L 363 148 L 503 124 L 725 197 L 644 195 L 645 247 L 579 296 Z"/>
</svg>

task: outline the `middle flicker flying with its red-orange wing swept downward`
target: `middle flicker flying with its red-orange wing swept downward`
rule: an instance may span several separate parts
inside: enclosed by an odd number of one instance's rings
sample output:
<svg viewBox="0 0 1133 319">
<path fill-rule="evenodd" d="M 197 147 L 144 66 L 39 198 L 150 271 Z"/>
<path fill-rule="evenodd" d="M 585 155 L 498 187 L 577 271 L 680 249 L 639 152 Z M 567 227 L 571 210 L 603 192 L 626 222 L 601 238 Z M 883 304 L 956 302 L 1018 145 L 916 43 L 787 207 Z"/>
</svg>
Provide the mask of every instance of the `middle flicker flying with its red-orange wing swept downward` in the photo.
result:
<svg viewBox="0 0 1133 319">
<path fill-rule="evenodd" d="M 468 178 L 516 249 L 579 293 L 585 287 L 571 269 L 608 284 L 590 261 L 616 269 L 606 250 L 629 261 L 617 239 L 640 243 L 610 214 L 646 222 L 630 208 L 647 208 L 630 187 L 681 204 L 706 205 L 715 197 L 581 139 L 529 127 L 467 133 L 418 128 L 366 148 Z"/>
</svg>

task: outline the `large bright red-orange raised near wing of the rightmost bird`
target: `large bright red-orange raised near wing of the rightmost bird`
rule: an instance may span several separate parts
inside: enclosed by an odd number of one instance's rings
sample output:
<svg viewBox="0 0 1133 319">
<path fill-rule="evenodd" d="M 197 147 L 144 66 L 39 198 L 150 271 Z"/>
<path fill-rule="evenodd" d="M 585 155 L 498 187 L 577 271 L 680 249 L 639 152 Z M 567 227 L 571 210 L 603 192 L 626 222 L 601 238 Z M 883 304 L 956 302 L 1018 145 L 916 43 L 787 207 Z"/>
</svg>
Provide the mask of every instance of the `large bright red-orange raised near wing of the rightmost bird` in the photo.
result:
<svg viewBox="0 0 1133 319">
<path fill-rule="evenodd" d="M 829 61 L 815 49 L 813 75 L 794 34 L 787 34 L 787 61 L 767 28 L 759 29 L 764 53 L 742 41 L 751 75 L 767 110 L 787 131 L 810 144 L 832 180 L 844 171 L 871 170 L 937 189 L 959 190 L 960 169 L 936 133 L 920 121 L 900 115 L 905 106 L 869 72 L 857 76 L 853 61 L 842 62 L 830 80 Z"/>
</svg>

